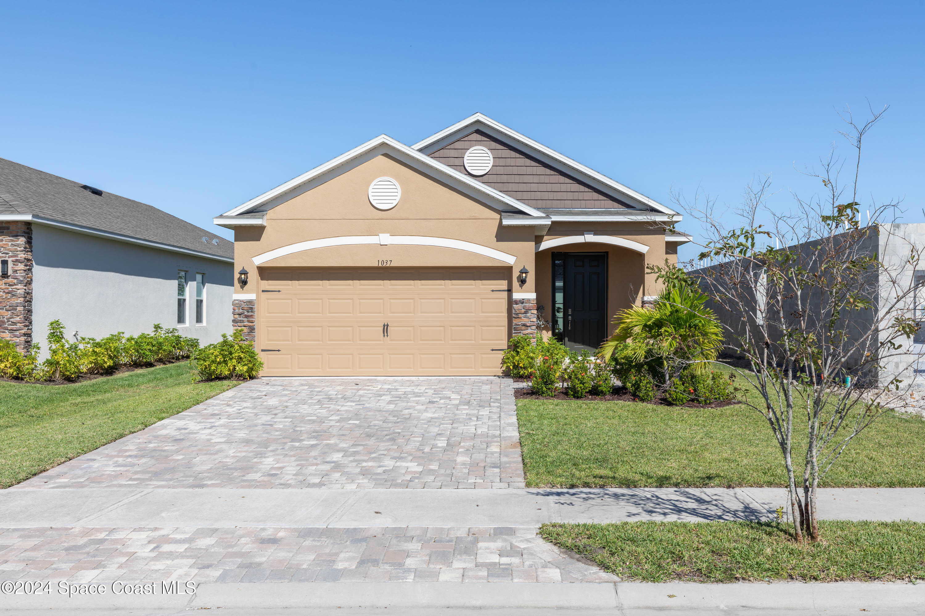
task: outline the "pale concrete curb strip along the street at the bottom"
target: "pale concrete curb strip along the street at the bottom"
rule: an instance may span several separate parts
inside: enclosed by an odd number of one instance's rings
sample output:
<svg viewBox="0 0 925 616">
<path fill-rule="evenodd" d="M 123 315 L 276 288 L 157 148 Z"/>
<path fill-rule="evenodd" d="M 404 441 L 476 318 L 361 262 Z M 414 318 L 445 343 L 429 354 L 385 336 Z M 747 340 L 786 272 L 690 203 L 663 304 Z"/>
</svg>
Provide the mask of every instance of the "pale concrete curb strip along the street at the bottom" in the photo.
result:
<svg viewBox="0 0 925 616">
<path fill-rule="evenodd" d="M 925 585 L 908 584 L 203 584 L 194 594 L 70 597 L 56 593 L 0 596 L 3 610 L 35 613 L 925 613 Z M 292 609 L 298 606 L 297 609 Z M 281 611 L 287 609 L 285 612 Z M 240 611 L 239 611 L 240 610 Z M 274 611 L 279 610 L 279 611 Z M 381 610 L 381 611 L 380 611 Z M 387 611 L 388 610 L 388 611 Z M 459 610 L 459 611 L 457 611 Z M 549 611 L 547 611 L 549 610 Z M 8 612 L 7 612 L 8 613 Z M 488 611 L 487 613 L 491 613 Z M 557 611 L 556 613 L 561 613 Z"/>
</svg>

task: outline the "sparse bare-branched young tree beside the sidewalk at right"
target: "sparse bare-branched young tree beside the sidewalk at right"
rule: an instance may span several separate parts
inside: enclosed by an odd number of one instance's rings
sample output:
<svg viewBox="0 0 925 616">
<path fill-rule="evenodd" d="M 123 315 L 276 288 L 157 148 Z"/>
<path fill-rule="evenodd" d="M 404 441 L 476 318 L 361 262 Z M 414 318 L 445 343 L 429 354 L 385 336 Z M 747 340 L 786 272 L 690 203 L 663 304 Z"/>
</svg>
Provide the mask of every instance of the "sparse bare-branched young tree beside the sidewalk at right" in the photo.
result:
<svg viewBox="0 0 925 616">
<path fill-rule="evenodd" d="M 861 142 L 885 111 L 863 125 L 845 116 L 843 134 L 857 151 L 853 181 L 839 185 L 841 165 L 830 156 L 808 172 L 822 195 L 796 197 L 793 211 L 767 206 L 769 177 L 748 187 L 732 228 L 715 201 L 679 199 L 708 230 L 698 259 L 710 264 L 692 273 L 711 297 L 727 350 L 745 360 L 737 375 L 757 394 L 744 403 L 767 419 L 783 454 L 799 541 L 820 538 L 820 480 L 909 385 L 890 367 L 918 360 L 911 343 L 920 249 L 894 236 L 894 225 L 862 225 L 857 202 Z M 894 220 L 896 206 L 871 211 L 873 221 Z M 804 442 L 805 452 L 797 445 Z"/>
</svg>

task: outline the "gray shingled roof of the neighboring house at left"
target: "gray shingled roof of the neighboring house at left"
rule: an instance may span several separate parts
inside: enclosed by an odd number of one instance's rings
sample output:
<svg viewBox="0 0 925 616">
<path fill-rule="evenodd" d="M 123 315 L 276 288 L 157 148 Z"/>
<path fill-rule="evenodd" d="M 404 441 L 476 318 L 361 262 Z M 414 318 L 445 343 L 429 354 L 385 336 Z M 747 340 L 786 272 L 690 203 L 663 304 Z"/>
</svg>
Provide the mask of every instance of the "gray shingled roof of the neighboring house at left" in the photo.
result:
<svg viewBox="0 0 925 616">
<path fill-rule="evenodd" d="M 0 220 L 48 224 L 208 259 L 234 259 L 234 242 L 224 237 L 154 206 L 84 186 L 0 158 Z"/>
</svg>

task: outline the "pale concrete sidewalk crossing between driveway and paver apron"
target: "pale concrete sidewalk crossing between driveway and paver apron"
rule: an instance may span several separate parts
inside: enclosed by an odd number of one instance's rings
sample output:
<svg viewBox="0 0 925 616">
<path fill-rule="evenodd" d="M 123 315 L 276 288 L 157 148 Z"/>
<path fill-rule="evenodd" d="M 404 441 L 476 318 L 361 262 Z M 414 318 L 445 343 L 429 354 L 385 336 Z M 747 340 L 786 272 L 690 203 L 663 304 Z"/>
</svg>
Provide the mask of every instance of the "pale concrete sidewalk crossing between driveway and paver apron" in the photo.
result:
<svg viewBox="0 0 925 616">
<path fill-rule="evenodd" d="M 6 489 L 0 524 L 84 527 L 537 526 L 760 520 L 786 490 Z M 820 489 L 820 518 L 925 522 L 925 489 Z"/>
</svg>

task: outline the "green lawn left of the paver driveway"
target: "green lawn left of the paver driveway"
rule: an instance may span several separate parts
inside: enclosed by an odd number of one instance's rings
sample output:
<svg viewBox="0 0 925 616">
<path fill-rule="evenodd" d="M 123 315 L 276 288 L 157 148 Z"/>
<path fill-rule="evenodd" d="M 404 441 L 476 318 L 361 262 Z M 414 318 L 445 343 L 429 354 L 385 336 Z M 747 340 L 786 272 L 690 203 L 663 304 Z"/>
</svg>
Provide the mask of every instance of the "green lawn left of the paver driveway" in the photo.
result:
<svg viewBox="0 0 925 616">
<path fill-rule="evenodd" d="M 0 488 L 185 411 L 238 381 L 191 382 L 187 362 L 73 385 L 0 382 Z"/>
</svg>

